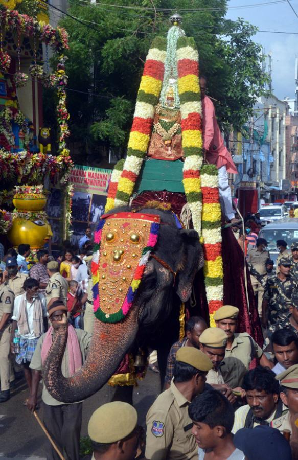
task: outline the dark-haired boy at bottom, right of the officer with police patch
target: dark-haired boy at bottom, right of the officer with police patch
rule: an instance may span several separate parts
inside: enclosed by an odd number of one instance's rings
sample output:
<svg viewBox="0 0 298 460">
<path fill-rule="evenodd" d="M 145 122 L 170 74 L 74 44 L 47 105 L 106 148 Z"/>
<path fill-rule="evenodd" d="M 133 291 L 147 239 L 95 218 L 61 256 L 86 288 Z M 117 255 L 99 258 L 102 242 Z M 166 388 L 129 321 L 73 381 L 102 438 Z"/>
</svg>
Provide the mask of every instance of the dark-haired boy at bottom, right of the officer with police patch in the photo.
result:
<svg viewBox="0 0 298 460">
<path fill-rule="evenodd" d="M 188 413 L 199 446 L 199 460 L 245 460 L 244 453 L 233 443 L 234 409 L 224 395 L 207 390 L 192 401 Z"/>
</svg>

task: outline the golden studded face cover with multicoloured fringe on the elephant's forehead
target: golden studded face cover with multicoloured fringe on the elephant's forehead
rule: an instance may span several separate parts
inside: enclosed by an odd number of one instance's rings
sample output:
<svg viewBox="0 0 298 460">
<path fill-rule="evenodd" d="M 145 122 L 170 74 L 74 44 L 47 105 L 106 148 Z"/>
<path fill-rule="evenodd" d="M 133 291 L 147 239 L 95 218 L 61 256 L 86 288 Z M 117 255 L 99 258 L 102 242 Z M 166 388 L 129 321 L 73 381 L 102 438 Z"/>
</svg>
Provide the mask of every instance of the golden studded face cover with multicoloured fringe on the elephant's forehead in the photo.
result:
<svg viewBox="0 0 298 460">
<path fill-rule="evenodd" d="M 125 318 L 157 242 L 160 218 L 142 213 L 102 216 L 95 232 L 91 264 L 93 309 L 104 323 Z"/>
</svg>

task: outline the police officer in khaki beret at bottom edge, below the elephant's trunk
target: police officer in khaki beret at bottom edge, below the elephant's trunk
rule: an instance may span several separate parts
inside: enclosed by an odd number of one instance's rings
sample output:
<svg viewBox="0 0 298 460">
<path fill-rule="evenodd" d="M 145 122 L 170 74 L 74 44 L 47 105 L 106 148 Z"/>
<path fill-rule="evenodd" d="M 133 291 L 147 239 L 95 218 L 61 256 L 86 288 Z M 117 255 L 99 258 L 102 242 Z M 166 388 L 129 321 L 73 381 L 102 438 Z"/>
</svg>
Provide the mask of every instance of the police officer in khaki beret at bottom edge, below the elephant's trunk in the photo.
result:
<svg viewBox="0 0 298 460">
<path fill-rule="evenodd" d="M 133 460 L 137 452 L 137 412 L 122 401 L 113 401 L 96 409 L 88 423 L 94 449 L 92 460 Z"/>
</svg>

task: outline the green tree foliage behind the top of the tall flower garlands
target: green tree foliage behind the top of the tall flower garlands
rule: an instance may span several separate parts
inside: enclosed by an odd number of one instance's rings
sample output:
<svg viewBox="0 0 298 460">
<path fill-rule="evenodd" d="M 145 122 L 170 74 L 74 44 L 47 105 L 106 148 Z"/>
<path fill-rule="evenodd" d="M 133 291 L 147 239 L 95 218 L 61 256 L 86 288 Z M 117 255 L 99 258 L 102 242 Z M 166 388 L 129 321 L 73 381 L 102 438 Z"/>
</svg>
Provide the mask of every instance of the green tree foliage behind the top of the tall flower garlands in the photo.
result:
<svg viewBox="0 0 298 460">
<path fill-rule="evenodd" d="M 252 39 L 257 29 L 242 19 L 226 20 L 226 0 L 113 0 L 119 8 L 69 3 L 73 18 L 61 22 L 70 35 L 68 108 L 72 141 L 83 151 L 88 145 L 95 155 L 99 146 L 124 152 L 150 43 L 156 34 L 166 36 L 176 10 L 182 28 L 196 41 L 200 72 L 208 78 L 223 128 L 241 129 L 256 98 L 265 94 L 261 47 Z"/>
</svg>

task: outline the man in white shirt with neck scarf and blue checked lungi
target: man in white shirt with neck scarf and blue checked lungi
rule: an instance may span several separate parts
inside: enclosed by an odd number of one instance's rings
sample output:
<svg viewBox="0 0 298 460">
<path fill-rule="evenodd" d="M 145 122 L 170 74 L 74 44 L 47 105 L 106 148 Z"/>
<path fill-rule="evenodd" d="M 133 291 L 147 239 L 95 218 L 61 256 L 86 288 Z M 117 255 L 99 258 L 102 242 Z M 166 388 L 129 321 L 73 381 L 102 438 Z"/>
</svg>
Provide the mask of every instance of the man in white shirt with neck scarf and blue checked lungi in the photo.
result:
<svg viewBox="0 0 298 460">
<path fill-rule="evenodd" d="M 25 293 L 18 295 L 14 300 L 12 315 L 12 331 L 10 337 L 13 350 L 15 330 L 20 334 L 20 352 L 16 355 L 16 362 L 24 366 L 25 379 L 31 393 L 31 370 L 29 365 L 39 337 L 48 328 L 47 303 L 42 294 L 38 294 L 39 282 L 34 278 L 27 278 L 24 282 Z"/>
</svg>

